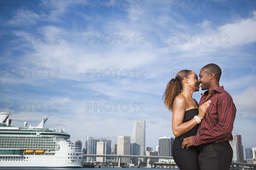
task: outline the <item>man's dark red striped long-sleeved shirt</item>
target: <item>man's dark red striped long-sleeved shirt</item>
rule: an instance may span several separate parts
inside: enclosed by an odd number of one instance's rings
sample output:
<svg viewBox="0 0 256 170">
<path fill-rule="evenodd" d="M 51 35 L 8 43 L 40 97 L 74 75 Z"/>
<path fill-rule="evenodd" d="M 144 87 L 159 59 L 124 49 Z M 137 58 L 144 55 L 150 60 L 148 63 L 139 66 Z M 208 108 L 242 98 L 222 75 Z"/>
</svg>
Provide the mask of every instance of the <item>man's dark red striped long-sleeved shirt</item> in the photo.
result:
<svg viewBox="0 0 256 170">
<path fill-rule="evenodd" d="M 199 106 L 205 102 L 207 94 L 208 91 L 205 91 Z M 224 90 L 223 86 L 220 86 L 212 91 L 207 100 L 211 100 L 211 104 L 198 127 L 196 136 L 194 136 L 194 145 L 232 141 L 232 130 L 236 117 L 236 106 L 232 97 Z"/>
</svg>

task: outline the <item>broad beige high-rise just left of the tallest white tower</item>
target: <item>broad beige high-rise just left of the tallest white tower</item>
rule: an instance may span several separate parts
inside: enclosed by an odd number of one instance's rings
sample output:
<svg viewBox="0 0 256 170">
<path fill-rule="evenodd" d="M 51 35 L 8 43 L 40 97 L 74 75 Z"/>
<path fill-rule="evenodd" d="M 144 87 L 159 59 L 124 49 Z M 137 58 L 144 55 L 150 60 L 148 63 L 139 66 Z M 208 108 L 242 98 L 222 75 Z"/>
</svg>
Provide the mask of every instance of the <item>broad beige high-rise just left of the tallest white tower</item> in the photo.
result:
<svg viewBox="0 0 256 170">
<path fill-rule="evenodd" d="M 117 155 L 131 155 L 131 136 L 117 136 Z M 131 163 L 131 158 L 121 158 L 121 162 Z"/>
</svg>

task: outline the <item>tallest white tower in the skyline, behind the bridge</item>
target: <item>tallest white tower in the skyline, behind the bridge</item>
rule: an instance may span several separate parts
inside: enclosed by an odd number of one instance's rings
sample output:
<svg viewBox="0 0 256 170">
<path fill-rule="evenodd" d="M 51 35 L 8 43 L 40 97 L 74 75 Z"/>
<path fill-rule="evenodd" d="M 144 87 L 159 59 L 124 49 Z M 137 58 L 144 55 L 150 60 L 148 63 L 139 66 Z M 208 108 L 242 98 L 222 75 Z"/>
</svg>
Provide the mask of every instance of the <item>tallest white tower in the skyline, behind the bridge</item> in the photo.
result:
<svg viewBox="0 0 256 170">
<path fill-rule="evenodd" d="M 142 155 L 145 156 L 145 146 L 146 146 L 146 121 L 137 120 L 134 123 L 132 130 L 132 142 L 131 142 L 131 154 L 132 155 Z M 140 159 L 144 161 L 143 159 Z M 132 163 L 137 164 L 138 158 L 132 158 Z"/>
</svg>

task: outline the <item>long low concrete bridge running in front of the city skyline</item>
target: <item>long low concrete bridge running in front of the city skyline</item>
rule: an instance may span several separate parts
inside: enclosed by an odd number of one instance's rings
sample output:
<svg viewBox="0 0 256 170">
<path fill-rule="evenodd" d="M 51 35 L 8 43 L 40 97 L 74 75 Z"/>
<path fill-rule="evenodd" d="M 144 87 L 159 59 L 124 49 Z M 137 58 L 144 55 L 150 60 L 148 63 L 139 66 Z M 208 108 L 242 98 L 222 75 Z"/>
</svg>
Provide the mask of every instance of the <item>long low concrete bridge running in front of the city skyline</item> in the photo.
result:
<svg viewBox="0 0 256 170">
<path fill-rule="evenodd" d="M 146 166 L 148 166 L 148 159 L 173 159 L 172 156 L 141 156 L 141 155 L 84 155 L 85 157 L 116 157 L 118 162 L 118 167 L 120 167 L 120 158 L 145 158 Z M 113 163 L 113 162 L 109 162 Z M 174 164 L 174 163 L 170 163 Z M 234 165 L 236 165 L 236 169 L 239 169 L 241 166 L 242 170 L 244 167 L 249 167 L 250 170 L 256 170 L 256 164 L 247 164 L 242 162 L 232 162 L 231 169 L 234 169 Z"/>
</svg>

